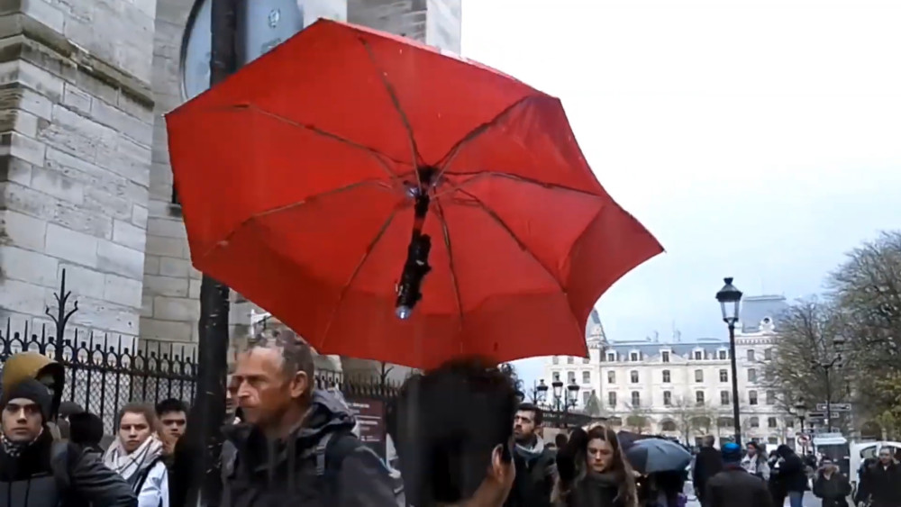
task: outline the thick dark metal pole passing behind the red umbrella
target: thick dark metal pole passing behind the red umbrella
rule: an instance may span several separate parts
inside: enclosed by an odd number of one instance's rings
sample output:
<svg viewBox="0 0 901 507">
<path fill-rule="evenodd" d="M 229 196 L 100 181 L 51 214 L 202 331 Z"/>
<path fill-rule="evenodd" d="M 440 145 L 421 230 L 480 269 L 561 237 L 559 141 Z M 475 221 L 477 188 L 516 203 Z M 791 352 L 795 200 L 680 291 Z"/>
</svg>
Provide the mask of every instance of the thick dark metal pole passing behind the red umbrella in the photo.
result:
<svg viewBox="0 0 901 507">
<path fill-rule="evenodd" d="M 240 0 L 213 0 L 210 86 L 216 86 L 238 68 L 236 32 Z M 225 379 L 229 347 L 229 288 L 210 276 L 200 285 L 200 331 L 195 403 L 199 405 L 196 431 L 202 449 L 199 456 L 201 501 L 218 505 L 222 496 L 222 425 L 225 420 Z"/>
</svg>

